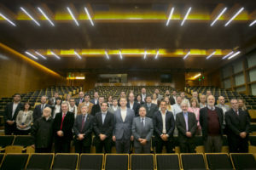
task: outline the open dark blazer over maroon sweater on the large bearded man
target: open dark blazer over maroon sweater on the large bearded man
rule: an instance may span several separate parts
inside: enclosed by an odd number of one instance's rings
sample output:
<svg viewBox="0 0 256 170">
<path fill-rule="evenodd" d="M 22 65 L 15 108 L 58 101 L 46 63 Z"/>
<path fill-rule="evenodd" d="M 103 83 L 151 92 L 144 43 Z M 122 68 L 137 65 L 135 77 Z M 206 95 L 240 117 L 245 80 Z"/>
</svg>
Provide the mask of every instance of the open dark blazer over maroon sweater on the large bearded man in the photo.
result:
<svg viewBox="0 0 256 170">
<path fill-rule="evenodd" d="M 218 122 L 219 122 L 219 129 L 220 129 L 220 135 L 223 135 L 223 128 L 224 128 L 224 114 L 222 109 L 219 109 L 218 107 L 215 107 L 215 111 L 217 111 L 218 114 Z M 201 108 L 200 112 L 200 125 L 201 125 L 201 131 L 202 131 L 202 137 L 203 139 L 207 139 L 208 136 L 208 107 Z"/>
</svg>

